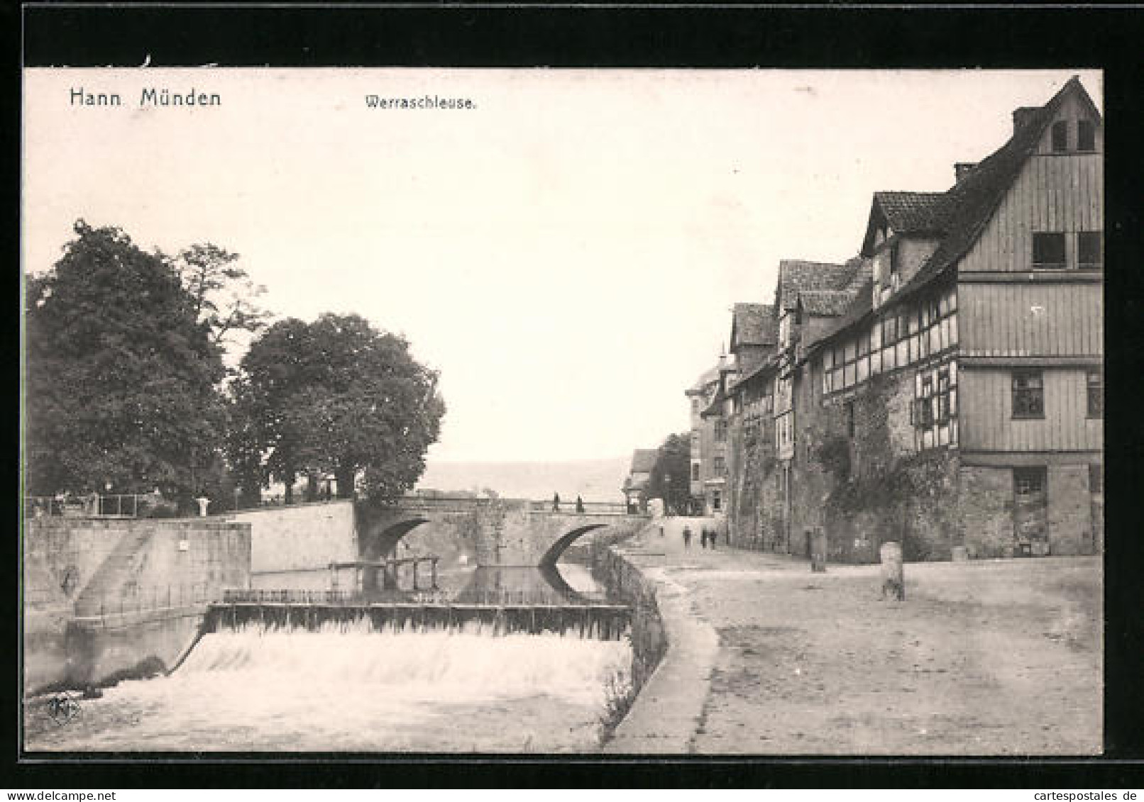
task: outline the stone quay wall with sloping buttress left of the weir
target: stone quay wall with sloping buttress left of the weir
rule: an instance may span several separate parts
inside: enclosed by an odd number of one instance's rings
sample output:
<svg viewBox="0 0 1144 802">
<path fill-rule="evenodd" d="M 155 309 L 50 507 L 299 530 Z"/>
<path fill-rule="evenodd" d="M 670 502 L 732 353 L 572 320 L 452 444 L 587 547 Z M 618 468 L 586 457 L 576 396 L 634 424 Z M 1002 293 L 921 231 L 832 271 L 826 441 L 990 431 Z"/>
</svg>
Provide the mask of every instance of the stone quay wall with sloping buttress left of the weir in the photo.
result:
<svg viewBox="0 0 1144 802">
<path fill-rule="evenodd" d="M 42 518 L 23 538 L 24 691 L 170 667 L 206 604 L 247 587 L 251 527 Z"/>
</svg>

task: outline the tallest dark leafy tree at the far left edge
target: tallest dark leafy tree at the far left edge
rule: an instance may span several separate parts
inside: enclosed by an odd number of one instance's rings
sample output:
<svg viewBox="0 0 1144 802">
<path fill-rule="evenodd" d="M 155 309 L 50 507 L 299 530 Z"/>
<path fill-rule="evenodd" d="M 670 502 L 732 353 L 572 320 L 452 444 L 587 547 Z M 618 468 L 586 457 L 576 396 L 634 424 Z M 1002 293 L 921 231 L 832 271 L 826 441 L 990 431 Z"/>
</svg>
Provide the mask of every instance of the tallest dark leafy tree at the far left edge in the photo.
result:
<svg viewBox="0 0 1144 802">
<path fill-rule="evenodd" d="M 119 228 L 74 231 L 25 284 L 29 490 L 189 497 L 215 463 L 220 350 L 161 254 Z"/>
</svg>

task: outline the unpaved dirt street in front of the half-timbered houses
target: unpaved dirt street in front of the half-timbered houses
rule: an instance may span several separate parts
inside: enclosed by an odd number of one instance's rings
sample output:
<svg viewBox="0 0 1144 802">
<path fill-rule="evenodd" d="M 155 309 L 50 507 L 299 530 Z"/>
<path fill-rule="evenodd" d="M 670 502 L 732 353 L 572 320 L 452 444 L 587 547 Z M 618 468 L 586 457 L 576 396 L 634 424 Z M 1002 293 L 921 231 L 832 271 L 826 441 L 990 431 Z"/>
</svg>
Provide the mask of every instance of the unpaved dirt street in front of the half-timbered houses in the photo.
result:
<svg viewBox="0 0 1144 802">
<path fill-rule="evenodd" d="M 877 566 L 704 550 L 699 526 L 633 546 L 718 634 L 692 752 L 1101 752 L 1098 558 L 907 563 L 899 602 Z"/>
</svg>

